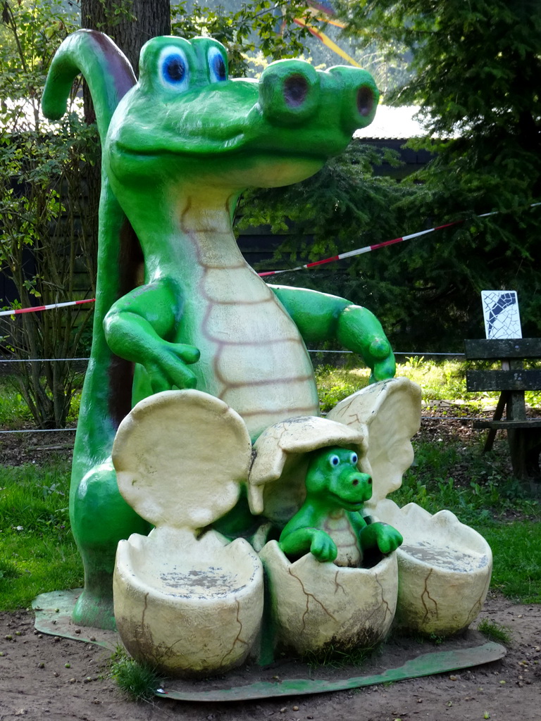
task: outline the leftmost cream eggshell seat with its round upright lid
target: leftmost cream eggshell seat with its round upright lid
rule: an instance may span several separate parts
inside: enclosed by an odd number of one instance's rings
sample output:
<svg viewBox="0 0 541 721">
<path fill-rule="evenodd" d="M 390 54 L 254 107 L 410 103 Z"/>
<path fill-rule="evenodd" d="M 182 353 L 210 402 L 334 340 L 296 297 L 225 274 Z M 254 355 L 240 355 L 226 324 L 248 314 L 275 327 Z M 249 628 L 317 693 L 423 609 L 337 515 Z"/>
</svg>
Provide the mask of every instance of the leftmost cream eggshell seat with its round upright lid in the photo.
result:
<svg viewBox="0 0 541 721">
<path fill-rule="evenodd" d="M 260 559 L 244 539 L 199 535 L 236 503 L 250 458 L 242 418 L 206 393 L 155 394 L 120 424 L 118 487 L 155 526 L 118 544 L 115 619 L 134 658 L 190 676 L 226 671 L 250 652 L 263 614 Z"/>
</svg>

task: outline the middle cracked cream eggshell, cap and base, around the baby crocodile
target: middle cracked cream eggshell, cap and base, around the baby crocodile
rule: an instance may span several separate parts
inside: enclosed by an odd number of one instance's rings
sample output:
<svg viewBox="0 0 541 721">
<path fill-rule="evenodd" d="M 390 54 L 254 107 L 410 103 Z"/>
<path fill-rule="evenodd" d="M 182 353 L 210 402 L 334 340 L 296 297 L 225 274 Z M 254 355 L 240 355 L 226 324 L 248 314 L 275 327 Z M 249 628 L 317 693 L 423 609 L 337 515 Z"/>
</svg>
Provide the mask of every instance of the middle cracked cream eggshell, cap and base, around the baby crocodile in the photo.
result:
<svg viewBox="0 0 541 721">
<path fill-rule="evenodd" d="M 348 428 L 318 417 L 294 418 L 265 430 L 254 445 L 257 456 L 249 481 L 252 512 L 263 512 L 278 526 L 294 516 L 306 496 L 310 451 L 351 448 L 359 456 L 359 469 L 370 473 L 366 435 L 363 424 Z M 278 543 L 269 541 L 260 557 L 281 645 L 300 654 L 320 653 L 331 645 L 346 652 L 371 647 L 389 631 L 397 602 L 395 554 L 373 568 L 341 568 L 320 563 L 310 553 L 291 563 Z"/>
</svg>

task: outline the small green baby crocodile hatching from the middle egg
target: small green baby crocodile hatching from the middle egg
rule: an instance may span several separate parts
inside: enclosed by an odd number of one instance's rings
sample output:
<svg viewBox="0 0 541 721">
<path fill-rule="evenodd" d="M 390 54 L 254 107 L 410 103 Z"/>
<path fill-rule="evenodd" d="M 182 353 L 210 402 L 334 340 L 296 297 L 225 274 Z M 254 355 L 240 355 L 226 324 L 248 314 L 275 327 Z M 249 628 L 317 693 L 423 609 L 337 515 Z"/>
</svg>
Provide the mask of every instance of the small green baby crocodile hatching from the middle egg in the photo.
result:
<svg viewBox="0 0 541 721">
<path fill-rule="evenodd" d="M 293 557 L 312 553 L 318 561 L 359 567 L 364 557 L 389 554 L 403 537 L 387 523 L 367 523 L 363 504 L 372 495 L 372 479 L 357 468 L 347 448 L 323 448 L 309 463 L 307 496 L 281 532 L 279 546 Z M 366 565 L 366 563 L 365 563 Z"/>
</svg>

